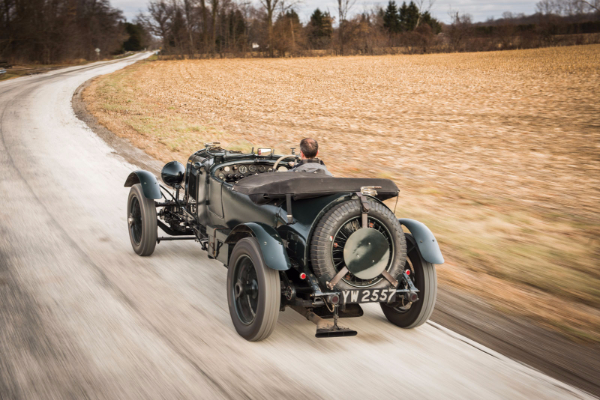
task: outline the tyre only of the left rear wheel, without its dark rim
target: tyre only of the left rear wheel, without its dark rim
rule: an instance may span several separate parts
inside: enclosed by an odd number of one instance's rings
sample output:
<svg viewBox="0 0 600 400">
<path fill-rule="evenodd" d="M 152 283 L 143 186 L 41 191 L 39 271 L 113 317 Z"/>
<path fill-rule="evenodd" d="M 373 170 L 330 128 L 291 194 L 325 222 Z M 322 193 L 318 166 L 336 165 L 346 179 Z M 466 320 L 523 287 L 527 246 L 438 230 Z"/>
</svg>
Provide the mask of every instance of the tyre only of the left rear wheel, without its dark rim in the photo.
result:
<svg viewBox="0 0 600 400">
<path fill-rule="evenodd" d="M 249 325 L 242 323 L 238 317 L 233 290 L 233 280 L 235 279 L 237 264 L 243 256 L 247 256 L 252 260 L 258 280 L 258 306 L 256 318 Z M 273 300 L 272 296 L 277 296 L 276 308 L 277 312 L 279 312 L 279 302 L 281 300 L 279 274 L 277 271 L 271 270 L 265 265 L 258 241 L 253 237 L 239 240 L 231 253 L 230 260 L 229 268 L 227 270 L 227 303 L 229 305 L 231 320 L 235 330 L 244 339 L 249 341 L 262 340 L 271 333 L 266 332 L 266 330 L 270 329 L 266 325 L 271 323 L 269 321 L 269 313 L 272 311 L 270 309 L 272 305 L 268 305 L 267 303 Z M 275 287 L 270 287 L 273 284 L 274 273 L 277 274 L 277 284 Z M 275 291 L 276 294 L 273 294 L 273 291 Z"/>
</svg>

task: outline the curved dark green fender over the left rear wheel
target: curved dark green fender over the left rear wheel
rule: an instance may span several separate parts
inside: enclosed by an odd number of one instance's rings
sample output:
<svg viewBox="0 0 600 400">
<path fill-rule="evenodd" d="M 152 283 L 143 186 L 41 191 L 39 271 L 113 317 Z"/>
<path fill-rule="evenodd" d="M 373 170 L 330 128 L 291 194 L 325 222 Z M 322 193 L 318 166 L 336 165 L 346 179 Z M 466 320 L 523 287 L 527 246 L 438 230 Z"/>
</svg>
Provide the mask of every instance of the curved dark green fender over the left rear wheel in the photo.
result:
<svg viewBox="0 0 600 400">
<path fill-rule="evenodd" d="M 249 236 L 255 237 L 258 241 L 267 267 L 276 271 L 287 271 L 291 268 L 283 240 L 272 226 L 260 222 L 239 224 L 229 233 L 225 243 L 233 250 L 238 240 Z"/>
</svg>

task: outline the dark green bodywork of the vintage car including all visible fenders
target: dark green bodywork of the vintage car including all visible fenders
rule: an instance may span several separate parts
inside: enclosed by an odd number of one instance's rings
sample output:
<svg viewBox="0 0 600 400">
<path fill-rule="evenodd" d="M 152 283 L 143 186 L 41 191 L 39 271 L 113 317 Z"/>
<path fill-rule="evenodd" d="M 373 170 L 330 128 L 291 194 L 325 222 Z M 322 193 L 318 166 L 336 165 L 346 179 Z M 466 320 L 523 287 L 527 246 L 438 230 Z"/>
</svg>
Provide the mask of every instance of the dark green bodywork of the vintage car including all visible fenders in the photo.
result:
<svg viewBox="0 0 600 400">
<path fill-rule="evenodd" d="M 228 265 L 229 255 L 238 240 L 248 236 L 256 237 L 269 268 L 279 271 L 295 268 L 310 274 L 309 245 L 317 222 L 331 207 L 356 195 L 353 192 L 340 192 L 294 200 L 293 223 L 288 223 L 285 201 L 257 204 L 248 195 L 234 190 L 234 184 L 239 180 L 235 176 L 225 176 L 225 179 L 219 176 L 226 167 L 238 166 L 239 170 L 240 165 L 254 165 L 257 168 L 262 166 L 262 173 L 277 173 L 269 171 L 269 168 L 273 167 L 279 157 L 272 153 L 263 157 L 254 153 L 244 154 L 222 149 L 211 151 L 208 148 L 194 153 L 185 166 L 185 179 L 182 183 L 184 206 L 181 209 L 170 208 L 173 214 L 181 215 L 182 221 L 197 228 L 184 232 L 169 230 L 167 233 L 205 235 L 209 256 L 225 265 Z M 279 165 L 291 168 L 289 161 L 284 160 Z M 248 175 L 251 174 L 246 174 Z M 142 183 L 146 197 L 155 200 L 161 198 L 156 189 L 158 181 L 151 173 L 136 171 L 129 176 L 125 186 L 135 183 Z M 381 203 L 375 197 L 371 199 Z M 433 234 L 425 225 L 409 219 L 400 219 L 400 222 L 413 233 L 427 261 L 435 264 L 444 262 Z"/>
</svg>

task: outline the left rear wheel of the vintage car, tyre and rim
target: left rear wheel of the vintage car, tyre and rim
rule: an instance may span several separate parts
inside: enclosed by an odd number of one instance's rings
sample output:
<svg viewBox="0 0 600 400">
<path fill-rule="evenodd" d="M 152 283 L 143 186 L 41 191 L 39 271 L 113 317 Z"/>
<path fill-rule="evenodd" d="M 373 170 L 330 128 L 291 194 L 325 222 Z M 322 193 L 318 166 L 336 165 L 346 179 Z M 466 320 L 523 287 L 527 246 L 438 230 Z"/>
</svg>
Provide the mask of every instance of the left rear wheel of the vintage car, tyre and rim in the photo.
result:
<svg viewBox="0 0 600 400">
<path fill-rule="evenodd" d="M 279 272 L 268 268 L 255 238 L 241 239 L 231 253 L 227 271 L 227 302 L 233 326 L 251 342 L 275 329 L 281 303 Z"/>
</svg>

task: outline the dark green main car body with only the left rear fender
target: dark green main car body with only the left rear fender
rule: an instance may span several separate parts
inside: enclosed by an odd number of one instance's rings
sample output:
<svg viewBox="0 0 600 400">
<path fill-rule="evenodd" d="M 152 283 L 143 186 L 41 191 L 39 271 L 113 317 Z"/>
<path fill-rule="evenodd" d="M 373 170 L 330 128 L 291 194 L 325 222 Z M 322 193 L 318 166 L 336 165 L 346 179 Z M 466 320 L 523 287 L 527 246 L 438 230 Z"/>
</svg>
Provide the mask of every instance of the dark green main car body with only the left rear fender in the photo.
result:
<svg viewBox="0 0 600 400">
<path fill-rule="evenodd" d="M 288 224 L 284 201 L 256 204 L 248 195 L 233 190 L 232 182 L 220 180 L 216 174 L 226 166 L 240 163 L 272 166 L 278 158 L 254 154 L 206 157 L 204 151 L 199 151 L 186 166 L 186 195 L 197 201 L 195 216 L 199 224 L 207 227 L 209 249 L 216 248 L 212 256 L 224 264 L 227 265 L 239 239 L 254 236 L 259 239 L 269 268 L 283 271 L 293 266 L 308 274 L 308 243 L 316 222 L 331 206 L 352 197 L 352 193 L 295 200 L 294 222 Z M 282 165 L 287 167 L 288 163 Z"/>
</svg>

